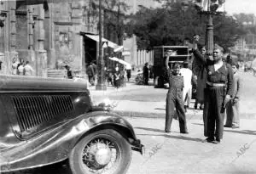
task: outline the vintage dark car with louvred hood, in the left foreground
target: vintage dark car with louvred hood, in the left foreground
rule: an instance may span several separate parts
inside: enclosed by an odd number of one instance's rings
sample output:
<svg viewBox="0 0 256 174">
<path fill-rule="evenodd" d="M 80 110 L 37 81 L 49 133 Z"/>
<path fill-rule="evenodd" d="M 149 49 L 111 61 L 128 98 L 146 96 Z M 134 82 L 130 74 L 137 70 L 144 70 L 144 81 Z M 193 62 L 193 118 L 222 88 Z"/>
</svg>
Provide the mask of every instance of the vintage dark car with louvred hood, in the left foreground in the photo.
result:
<svg viewBox="0 0 256 174">
<path fill-rule="evenodd" d="M 131 149 L 143 152 L 132 126 L 93 106 L 86 83 L 0 76 L 0 173 L 68 159 L 74 174 L 121 174 Z"/>
</svg>

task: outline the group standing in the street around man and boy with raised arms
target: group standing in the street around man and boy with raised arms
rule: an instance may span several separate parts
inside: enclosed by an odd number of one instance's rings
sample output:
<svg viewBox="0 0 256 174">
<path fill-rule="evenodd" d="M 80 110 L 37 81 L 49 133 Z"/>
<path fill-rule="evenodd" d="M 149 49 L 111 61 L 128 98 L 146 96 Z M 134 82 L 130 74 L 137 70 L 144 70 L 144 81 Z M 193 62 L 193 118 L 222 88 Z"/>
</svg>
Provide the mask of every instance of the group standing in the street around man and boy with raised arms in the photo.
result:
<svg viewBox="0 0 256 174">
<path fill-rule="evenodd" d="M 195 106 L 203 109 L 204 135 L 209 143 L 220 143 L 224 126 L 239 127 L 239 98 L 241 94 L 241 77 L 237 73 L 239 65 L 228 58 L 223 59 L 223 50 L 214 47 L 213 55 L 206 54 L 205 47 L 199 51 L 197 42 L 200 36 L 194 36 L 191 51 L 193 62 L 189 70 L 187 62 L 183 68 L 178 63 L 169 66 L 173 53 L 167 51 L 166 69 L 169 90 L 166 95 L 165 131 L 171 132 L 172 119 L 178 117 L 180 132 L 189 133 L 186 125 L 186 109 L 189 108 L 192 85 L 196 85 Z M 176 111 L 175 111 L 176 110 Z M 224 125 L 224 116 L 226 123 Z"/>
</svg>

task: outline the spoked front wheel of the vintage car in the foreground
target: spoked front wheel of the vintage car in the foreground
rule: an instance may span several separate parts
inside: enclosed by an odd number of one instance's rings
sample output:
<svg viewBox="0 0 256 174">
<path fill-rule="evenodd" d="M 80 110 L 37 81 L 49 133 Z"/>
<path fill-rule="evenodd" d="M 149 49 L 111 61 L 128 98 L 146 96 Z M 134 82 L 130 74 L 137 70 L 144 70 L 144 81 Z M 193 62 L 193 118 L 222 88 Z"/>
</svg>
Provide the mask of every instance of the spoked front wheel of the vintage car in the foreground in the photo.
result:
<svg viewBox="0 0 256 174">
<path fill-rule="evenodd" d="M 125 173 L 131 146 L 118 132 L 106 129 L 84 137 L 73 148 L 69 166 L 73 174 Z"/>
</svg>

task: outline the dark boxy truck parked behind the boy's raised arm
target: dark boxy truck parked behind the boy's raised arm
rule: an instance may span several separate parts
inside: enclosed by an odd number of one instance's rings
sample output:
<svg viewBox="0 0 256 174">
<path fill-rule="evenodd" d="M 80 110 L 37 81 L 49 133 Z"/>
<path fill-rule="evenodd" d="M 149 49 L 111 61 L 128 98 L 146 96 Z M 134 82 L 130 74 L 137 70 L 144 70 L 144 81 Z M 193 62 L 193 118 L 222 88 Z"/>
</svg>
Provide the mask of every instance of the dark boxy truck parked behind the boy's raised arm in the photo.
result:
<svg viewBox="0 0 256 174">
<path fill-rule="evenodd" d="M 186 46 L 159 46 L 154 47 L 154 87 L 164 87 L 166 79 L 166 51 L 172 49 L 176 55 L 172 55 L 169 66 L 172 68 L 174 62 L 183 65 L 184 61 L 189 61 L 189 47 Z"/>
</svg>

